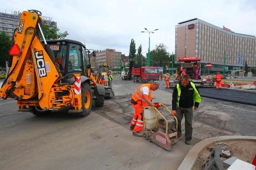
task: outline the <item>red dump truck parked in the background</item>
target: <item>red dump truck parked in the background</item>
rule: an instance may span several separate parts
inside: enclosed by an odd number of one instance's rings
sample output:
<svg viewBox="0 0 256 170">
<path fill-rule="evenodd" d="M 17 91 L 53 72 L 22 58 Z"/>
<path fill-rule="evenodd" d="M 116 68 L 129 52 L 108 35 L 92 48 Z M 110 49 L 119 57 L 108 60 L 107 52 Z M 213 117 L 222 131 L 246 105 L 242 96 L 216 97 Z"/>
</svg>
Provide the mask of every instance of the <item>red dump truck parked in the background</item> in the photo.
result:
<svg viewBox="0 0 256 170">
<path fill-rule="evenodd" d="M 134 82 L 148 82 L 158 80 L 157 67 L 132 68 L 132 80 Z"/>
</svg>

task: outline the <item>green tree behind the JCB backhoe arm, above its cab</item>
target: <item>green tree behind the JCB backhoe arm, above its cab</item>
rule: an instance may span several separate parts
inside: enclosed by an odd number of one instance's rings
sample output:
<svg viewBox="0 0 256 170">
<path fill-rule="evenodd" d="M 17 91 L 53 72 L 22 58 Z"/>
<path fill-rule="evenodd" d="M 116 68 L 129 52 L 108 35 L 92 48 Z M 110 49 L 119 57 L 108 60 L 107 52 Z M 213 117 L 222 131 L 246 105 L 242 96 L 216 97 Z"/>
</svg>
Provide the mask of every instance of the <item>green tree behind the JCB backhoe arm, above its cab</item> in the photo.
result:
<svg viewBox="0 0 256 170">
<path fill-rule="evenodd" d="M 50 25 L 42 24 L 42 31 L 44 33 L 45 40 L 59 40 L 65 39 L 69 34 L 67 31 L 61 33 L 58 27 L 53 26 L 52 22 Z"/>
</svg>

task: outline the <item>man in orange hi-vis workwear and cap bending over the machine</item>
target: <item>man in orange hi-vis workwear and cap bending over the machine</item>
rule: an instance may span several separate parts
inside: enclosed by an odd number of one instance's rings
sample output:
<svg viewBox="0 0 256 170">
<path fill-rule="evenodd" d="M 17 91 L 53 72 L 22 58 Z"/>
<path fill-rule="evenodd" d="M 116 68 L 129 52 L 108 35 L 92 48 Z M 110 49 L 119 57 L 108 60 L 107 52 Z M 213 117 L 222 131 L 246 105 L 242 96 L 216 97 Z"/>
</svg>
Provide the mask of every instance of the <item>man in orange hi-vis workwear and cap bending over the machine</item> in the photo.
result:
<svg viewBox="0 0 256 170">
<path fill-rule="evenodd" d="M 152 102 L 151 92 L 157 89 L 161 89 L 160 83 L 158 81 L 154 81 L 151 84 L 147 83 L 140 85 L 138 89 L 132 94 L 131 103 L 135 109 L 135 113 L 132 117 L 130 129 L 133 130 L 133 136 L 142 137 L 142 134 L 140 133 L 144 125 L 142 106 L 153 106 L 156 108 L 160 107 L 159 104 L 154 104 Z"/>
</svg>

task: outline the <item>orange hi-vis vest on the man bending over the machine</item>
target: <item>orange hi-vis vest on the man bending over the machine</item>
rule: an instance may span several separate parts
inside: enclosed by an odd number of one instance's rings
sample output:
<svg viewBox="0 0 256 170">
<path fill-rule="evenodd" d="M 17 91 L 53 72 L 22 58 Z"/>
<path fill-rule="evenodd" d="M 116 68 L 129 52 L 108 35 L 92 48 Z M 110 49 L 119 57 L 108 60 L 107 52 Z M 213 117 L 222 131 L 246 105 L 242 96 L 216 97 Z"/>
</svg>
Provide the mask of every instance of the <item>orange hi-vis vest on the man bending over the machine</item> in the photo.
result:
<svg viewBox="0 0 256 170">
<path fill-rule="evenodd" d="M 150 83 L 140 85 L 140 86 L 138 87 L 138 89 L 132 94 L 132 99 L 133 99 L 134 101 L 136 101 L 136 102 L 137 102 L 138 104 L 140 104 L 140 105 L 141 105 L 141 102 L 140 102 L 140 100 L 141 100 L 141 101 L 142 101 L 142 106 L 148 106 L 148 104 L 147 104 L 147 102 L 146 102 L 146 100 L 145 100 L 145 97 L 144 97 L 143 93 L 140 91 L 140 88 L 141 88 L 141 87 L 145 87 L 145 86 L 148 87 L 148 89 L 149 89 L 148 99 L 151 100 L 152 97 L 151 97 L 150 85 L 151 85 Z"/>
</svg>

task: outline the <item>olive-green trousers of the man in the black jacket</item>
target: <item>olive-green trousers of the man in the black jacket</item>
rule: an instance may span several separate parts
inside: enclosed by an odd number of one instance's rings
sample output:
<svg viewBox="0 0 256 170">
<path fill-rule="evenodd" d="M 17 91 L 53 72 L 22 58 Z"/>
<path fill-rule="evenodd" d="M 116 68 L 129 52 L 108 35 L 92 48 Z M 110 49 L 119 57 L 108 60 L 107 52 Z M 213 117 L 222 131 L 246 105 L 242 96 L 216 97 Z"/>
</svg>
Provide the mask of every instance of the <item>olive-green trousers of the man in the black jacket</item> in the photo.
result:
<svg viewBox="0 0 256 170">
<path fill-rule="evenodd" d="M 182 135 L 181 133 L 181 121 L 183 118 L 183 114 L 185 117 L 185 139 L 192 139 L 192 120 L 193 120 L 193 107 L 190 108 L 176 108 L 176 118 L 178 120 L 178 137 Z"/>
</svg>

